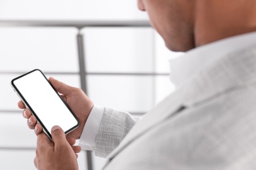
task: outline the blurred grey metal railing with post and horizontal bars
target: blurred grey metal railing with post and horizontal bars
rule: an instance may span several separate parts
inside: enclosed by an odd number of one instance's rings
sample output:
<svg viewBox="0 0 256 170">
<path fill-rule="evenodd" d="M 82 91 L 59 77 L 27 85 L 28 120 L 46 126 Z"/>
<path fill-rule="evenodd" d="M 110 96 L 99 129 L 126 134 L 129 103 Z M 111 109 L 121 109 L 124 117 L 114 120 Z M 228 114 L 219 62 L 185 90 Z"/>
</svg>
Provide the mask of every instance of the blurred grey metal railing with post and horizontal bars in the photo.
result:
<svg viewBox="0 0 256 170">
<path fill-rule="evenodd" d="M 167 75 L 157 73 L 88 73 L 85 67 L 86 55 L 84 49 L 84 35 L 81 29 L 85 27 L 150 27 L 150 23 L 147 20 L 0 20 L 0 27 L 76 27 L 77 28 L 77 51 L 79 58 L 79 77 L 81 82 L 81 89 L 87 93 L 87 75 Z M 0 73 L 8 74 L 11 72 Z M 12 72 L 13 73 L 13 72 Z M 54 73 L 56 74 L 56 73 Z M 72 74 L 72 73 L 65 73 Z M 8 111 L 8 110 L 3 110 Z M 0 148 L 4 149 L 4 148 Z M 10 148 L 8 148 L 10 149 Z M 14 148 L 17 149 L 17 148 Z M 20 148 L 31 149 L 31 148 Z M 93 170 L 93 160 L 91 152 L 87 151 L 87 167 L 88 170 Z"/>
</svg>

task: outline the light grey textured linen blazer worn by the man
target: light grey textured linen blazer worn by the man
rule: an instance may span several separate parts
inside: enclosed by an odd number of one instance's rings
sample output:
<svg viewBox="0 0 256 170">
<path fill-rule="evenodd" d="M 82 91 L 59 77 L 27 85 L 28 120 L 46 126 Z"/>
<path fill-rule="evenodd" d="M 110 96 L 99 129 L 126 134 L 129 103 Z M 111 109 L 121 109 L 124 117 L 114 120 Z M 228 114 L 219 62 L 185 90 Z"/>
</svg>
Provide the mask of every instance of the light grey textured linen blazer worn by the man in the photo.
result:
<svg viewBox="0 0 256 170">
<path fill-rule="evenodd" d="M 105 110 L 95 146 L 111 152 L 104 169 L 256 169 L 256 44 L 217 59 L 133 124 Z"/>
</svg>

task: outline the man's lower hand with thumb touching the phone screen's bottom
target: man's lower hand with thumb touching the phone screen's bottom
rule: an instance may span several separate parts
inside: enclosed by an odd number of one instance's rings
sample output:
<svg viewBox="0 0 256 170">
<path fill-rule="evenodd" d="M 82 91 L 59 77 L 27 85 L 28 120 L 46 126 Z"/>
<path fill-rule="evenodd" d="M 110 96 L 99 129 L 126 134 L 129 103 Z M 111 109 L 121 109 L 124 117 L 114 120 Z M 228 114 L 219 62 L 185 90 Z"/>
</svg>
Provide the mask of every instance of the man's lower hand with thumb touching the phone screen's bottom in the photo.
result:
<svg viewBox="0 0 256 170">
<path fill-rule="evenodd" d="M 41 170 L 78 169 L 77 155 L 80 152 L 80 146 L 70 146 L 66 140 L 64 131 L 59 126 L 52 128 L 53 141 L 45 135 L 37 135 L 37 148 L 35 150 L 35 167 Z"/>
</svg>

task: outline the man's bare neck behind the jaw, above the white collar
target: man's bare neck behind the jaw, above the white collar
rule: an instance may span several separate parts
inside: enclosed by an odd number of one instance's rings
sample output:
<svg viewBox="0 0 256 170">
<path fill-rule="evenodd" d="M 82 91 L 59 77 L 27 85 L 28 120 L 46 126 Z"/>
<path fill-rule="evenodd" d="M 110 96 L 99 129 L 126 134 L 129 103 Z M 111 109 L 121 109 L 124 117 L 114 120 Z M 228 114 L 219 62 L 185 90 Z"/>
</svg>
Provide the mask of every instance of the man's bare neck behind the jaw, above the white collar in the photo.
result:
<svg viewBox="0 0 256 170">
<path fill-rule="evenodd" d="M 195 15 L 196 46 L 256 31 L 256 1 L 199 1 Z"/>
</svg>

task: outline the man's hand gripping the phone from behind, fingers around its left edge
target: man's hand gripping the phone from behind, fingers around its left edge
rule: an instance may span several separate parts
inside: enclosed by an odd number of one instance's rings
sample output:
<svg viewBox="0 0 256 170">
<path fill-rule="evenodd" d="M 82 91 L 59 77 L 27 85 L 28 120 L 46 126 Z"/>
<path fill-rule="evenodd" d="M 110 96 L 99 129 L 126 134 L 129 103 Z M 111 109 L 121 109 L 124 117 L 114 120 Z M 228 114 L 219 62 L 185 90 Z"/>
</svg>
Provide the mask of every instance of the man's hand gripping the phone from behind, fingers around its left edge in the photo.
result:
<svg viewBox="0 0 256 170">
<path fill-rule="evenodd" d="M 79 139 L 81 137 L 83 127 L 85 126 L 85 122 L 91 112 L 91 109 L 93 109 L 93 102 L 79 88 L 68 86 L 63 82 L 55 80 L 52 77 L 49 78 L 49 81 L 57 90 L 57 92 L 62 94 L 62 98 L 64 99 L 64 101 L 66 101 L 66 103 L 74 112 L 75 116 L 78 118 L 80 122 L 79 127 L 77 127 L 77 129 L 69 133 L 67 136 L 70 136 L 74 139 Z M 31 114 L 30 110 L 26 109 L 22 101 L 18 102 L 18 107 L 20 109 L 24 109 L 23 116 L 24 118 L 28 119 L 28 127 L 30 127 L 30 129 L 35 129 L 35 133 L 37 135 L 41 133 L 42 127 L 39 124 L 37 124 L 35 116 Z"/>
</svg>

